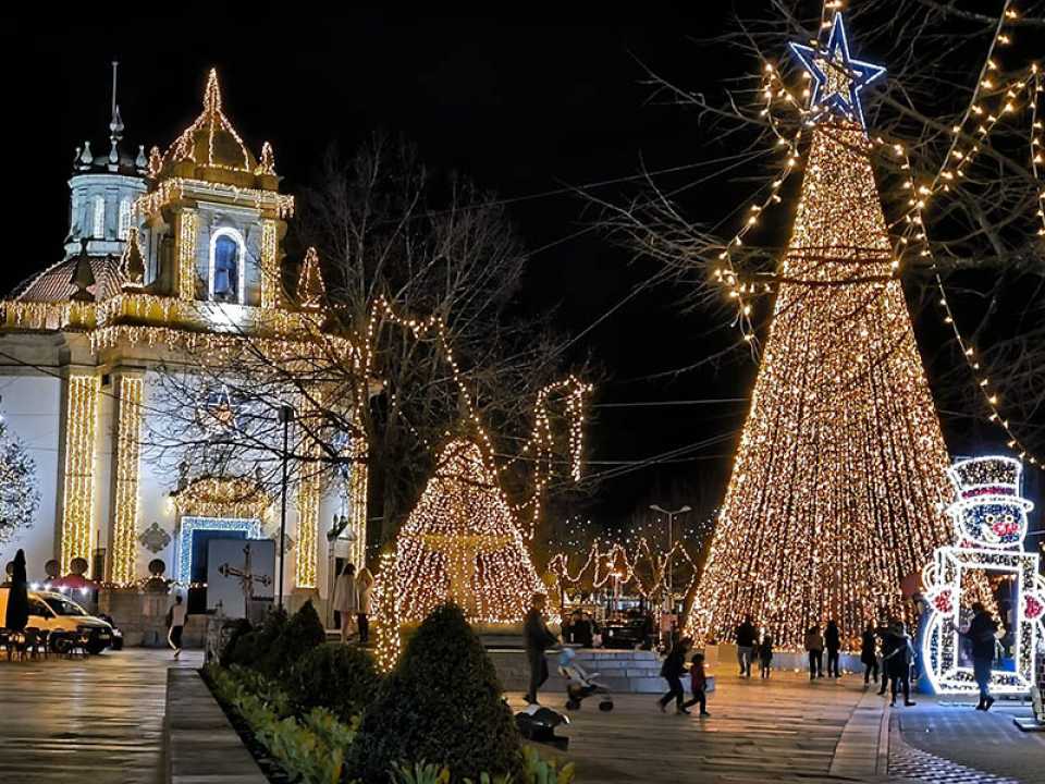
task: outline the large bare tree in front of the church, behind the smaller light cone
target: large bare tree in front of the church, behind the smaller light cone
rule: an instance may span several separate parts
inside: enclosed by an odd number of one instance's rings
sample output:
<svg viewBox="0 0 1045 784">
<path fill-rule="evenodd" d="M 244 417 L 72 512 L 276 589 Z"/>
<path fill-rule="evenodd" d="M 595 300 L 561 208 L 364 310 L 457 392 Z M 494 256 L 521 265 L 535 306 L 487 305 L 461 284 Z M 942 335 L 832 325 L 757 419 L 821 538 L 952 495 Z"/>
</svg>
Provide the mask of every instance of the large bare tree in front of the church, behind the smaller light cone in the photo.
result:
<svg viewBox="0 0 1045 784">
<path fill-rule="evenodd" d="M 382 543 L 452 434 L 489 436 L 522 517 L 532 516 L 538 480 L 565 489 L 551 479 L 570 473 L 568 388 L 546 395 L 548 449 L 532 434 L 539 390 L 565 376 L 566 344 L 546 316 L 519 306 L 526 249 L 491 195 L 428 171 L 407 144 L 374 137 L 352 157 L 325 157 L 296 231 L 318 249 L 322 307 L 298 314 L 293 348 L 237 331 L 228 351 L 200 346 L 168 367 L 163 408 L 182 414 L 153 433 L 153 454 L 271 480 L 279 411 L 290 404 L 300 420 L 288 450 L 299 477 L 351 463 L 353 438 L 365 437 Z M 287 301 L 300 306 L 295 275 L 285 278 Z M 234 415 L 222 408 L 229 401 Z"/>
</svg>

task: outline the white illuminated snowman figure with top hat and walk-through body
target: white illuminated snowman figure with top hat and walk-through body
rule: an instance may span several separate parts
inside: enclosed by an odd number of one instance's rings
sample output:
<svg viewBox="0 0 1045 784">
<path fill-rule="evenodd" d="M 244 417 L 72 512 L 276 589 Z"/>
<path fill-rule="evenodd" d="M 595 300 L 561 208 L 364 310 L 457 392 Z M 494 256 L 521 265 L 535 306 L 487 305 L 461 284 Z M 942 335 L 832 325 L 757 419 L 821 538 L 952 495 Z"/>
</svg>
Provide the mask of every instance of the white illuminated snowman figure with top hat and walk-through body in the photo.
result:
<svg viewBox="0 0 1045 784">
<path fill-rule="evenodd" d="M 1034 685 L 1035 653 L 1045 644 L 1045 579 L 1037 554 L 1023 551 L 1026 513 L 1034 509 L 1020 495 L 1023 464 L 1012 457 L 974 457 L 951 466 L 947 475 L 957 499 L 947 509 L 956 544 L 936 548 L 922 571 L 927 602 L 922 626 L 922 662 L 936 694 L 976 691 L 972 662 L 960 656 L 962 575 L 984 569 L 1016 584 L 1015 671 L 993 670 L 992 691 L 1026 693 Z"/>
</svg>

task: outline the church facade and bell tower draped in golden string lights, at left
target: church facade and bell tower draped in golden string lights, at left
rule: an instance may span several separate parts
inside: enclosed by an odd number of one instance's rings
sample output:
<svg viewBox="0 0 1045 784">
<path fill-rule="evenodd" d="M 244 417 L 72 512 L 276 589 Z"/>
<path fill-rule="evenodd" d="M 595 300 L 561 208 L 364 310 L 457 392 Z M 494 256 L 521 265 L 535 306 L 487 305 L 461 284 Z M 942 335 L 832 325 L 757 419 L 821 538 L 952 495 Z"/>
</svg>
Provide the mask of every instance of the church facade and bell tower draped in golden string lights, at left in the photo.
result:
<svg viewBox="0 0 1045 784">
<path fill-rule="evenodd" d="M 295 345 L 305 320 L 320 320 L 322 280 L 310 254 L 287 293 L 294 199 L 280 193 L 268 143 L 256 157 L 229 121 L 214 72 L 200 115 L 165 152 L 127 152 L 123 132 L 113 99 L 109 151 L 76 151 L 64 258 L 0 305 L 0 408 L 40 493 L 37 519 L 0 558 L 23 548 L 30 580 L 51 560 L 64 575 L 85 559 L 113 587 L 139 584 L 160 559 L 188 586 L 206 579 L 208 535 L 279 538 L 280 488 L 146 454 L 147 433 L 170 429 L 159 421 L 170 416 L 164 368 L 243 340 Z M 366 487 L 360 460 L 287 491 L 275 548 L 286 593 L 325 598 L 335 560 L 364 560 Z M 335 518 L 342 530 L 328 541 Z"/>
</svg>

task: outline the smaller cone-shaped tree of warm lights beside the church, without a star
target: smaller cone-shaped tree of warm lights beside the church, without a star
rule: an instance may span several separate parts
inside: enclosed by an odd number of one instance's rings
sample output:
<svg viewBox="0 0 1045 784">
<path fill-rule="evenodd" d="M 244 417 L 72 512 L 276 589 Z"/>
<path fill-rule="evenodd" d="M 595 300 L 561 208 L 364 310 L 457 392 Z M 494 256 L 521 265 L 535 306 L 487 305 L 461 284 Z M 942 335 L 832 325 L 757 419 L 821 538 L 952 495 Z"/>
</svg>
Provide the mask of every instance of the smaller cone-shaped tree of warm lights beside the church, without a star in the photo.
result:
<svg viewBox="0 0 1045 784">
<path fill-rule="evenodd" d="M 518 623 L 533 592 L 546 591 L 475 442 L 457 439 L 441 451 L 399 531 L 393 575 L 399 623 L 422 621 L 445 601 L 474 623 Z"/>
</svg>

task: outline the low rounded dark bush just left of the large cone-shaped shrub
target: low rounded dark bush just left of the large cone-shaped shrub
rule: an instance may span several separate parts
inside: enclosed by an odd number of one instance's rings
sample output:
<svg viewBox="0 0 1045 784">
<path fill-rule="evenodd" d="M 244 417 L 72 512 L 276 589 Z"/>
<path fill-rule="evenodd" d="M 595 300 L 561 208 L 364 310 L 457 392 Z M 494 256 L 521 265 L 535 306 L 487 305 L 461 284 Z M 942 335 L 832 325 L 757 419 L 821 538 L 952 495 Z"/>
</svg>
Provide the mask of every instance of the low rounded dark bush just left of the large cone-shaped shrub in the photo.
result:
<svg viewBox="0 0 1045 784">
<path fill-rule="evenodd" d="M 298 660 L 287 688 L 302 713 L 328 708 L 348 723 L 373 702 L 380 683 L 368 653 L 355 646 L 324 642 Z"/>
</svg>

